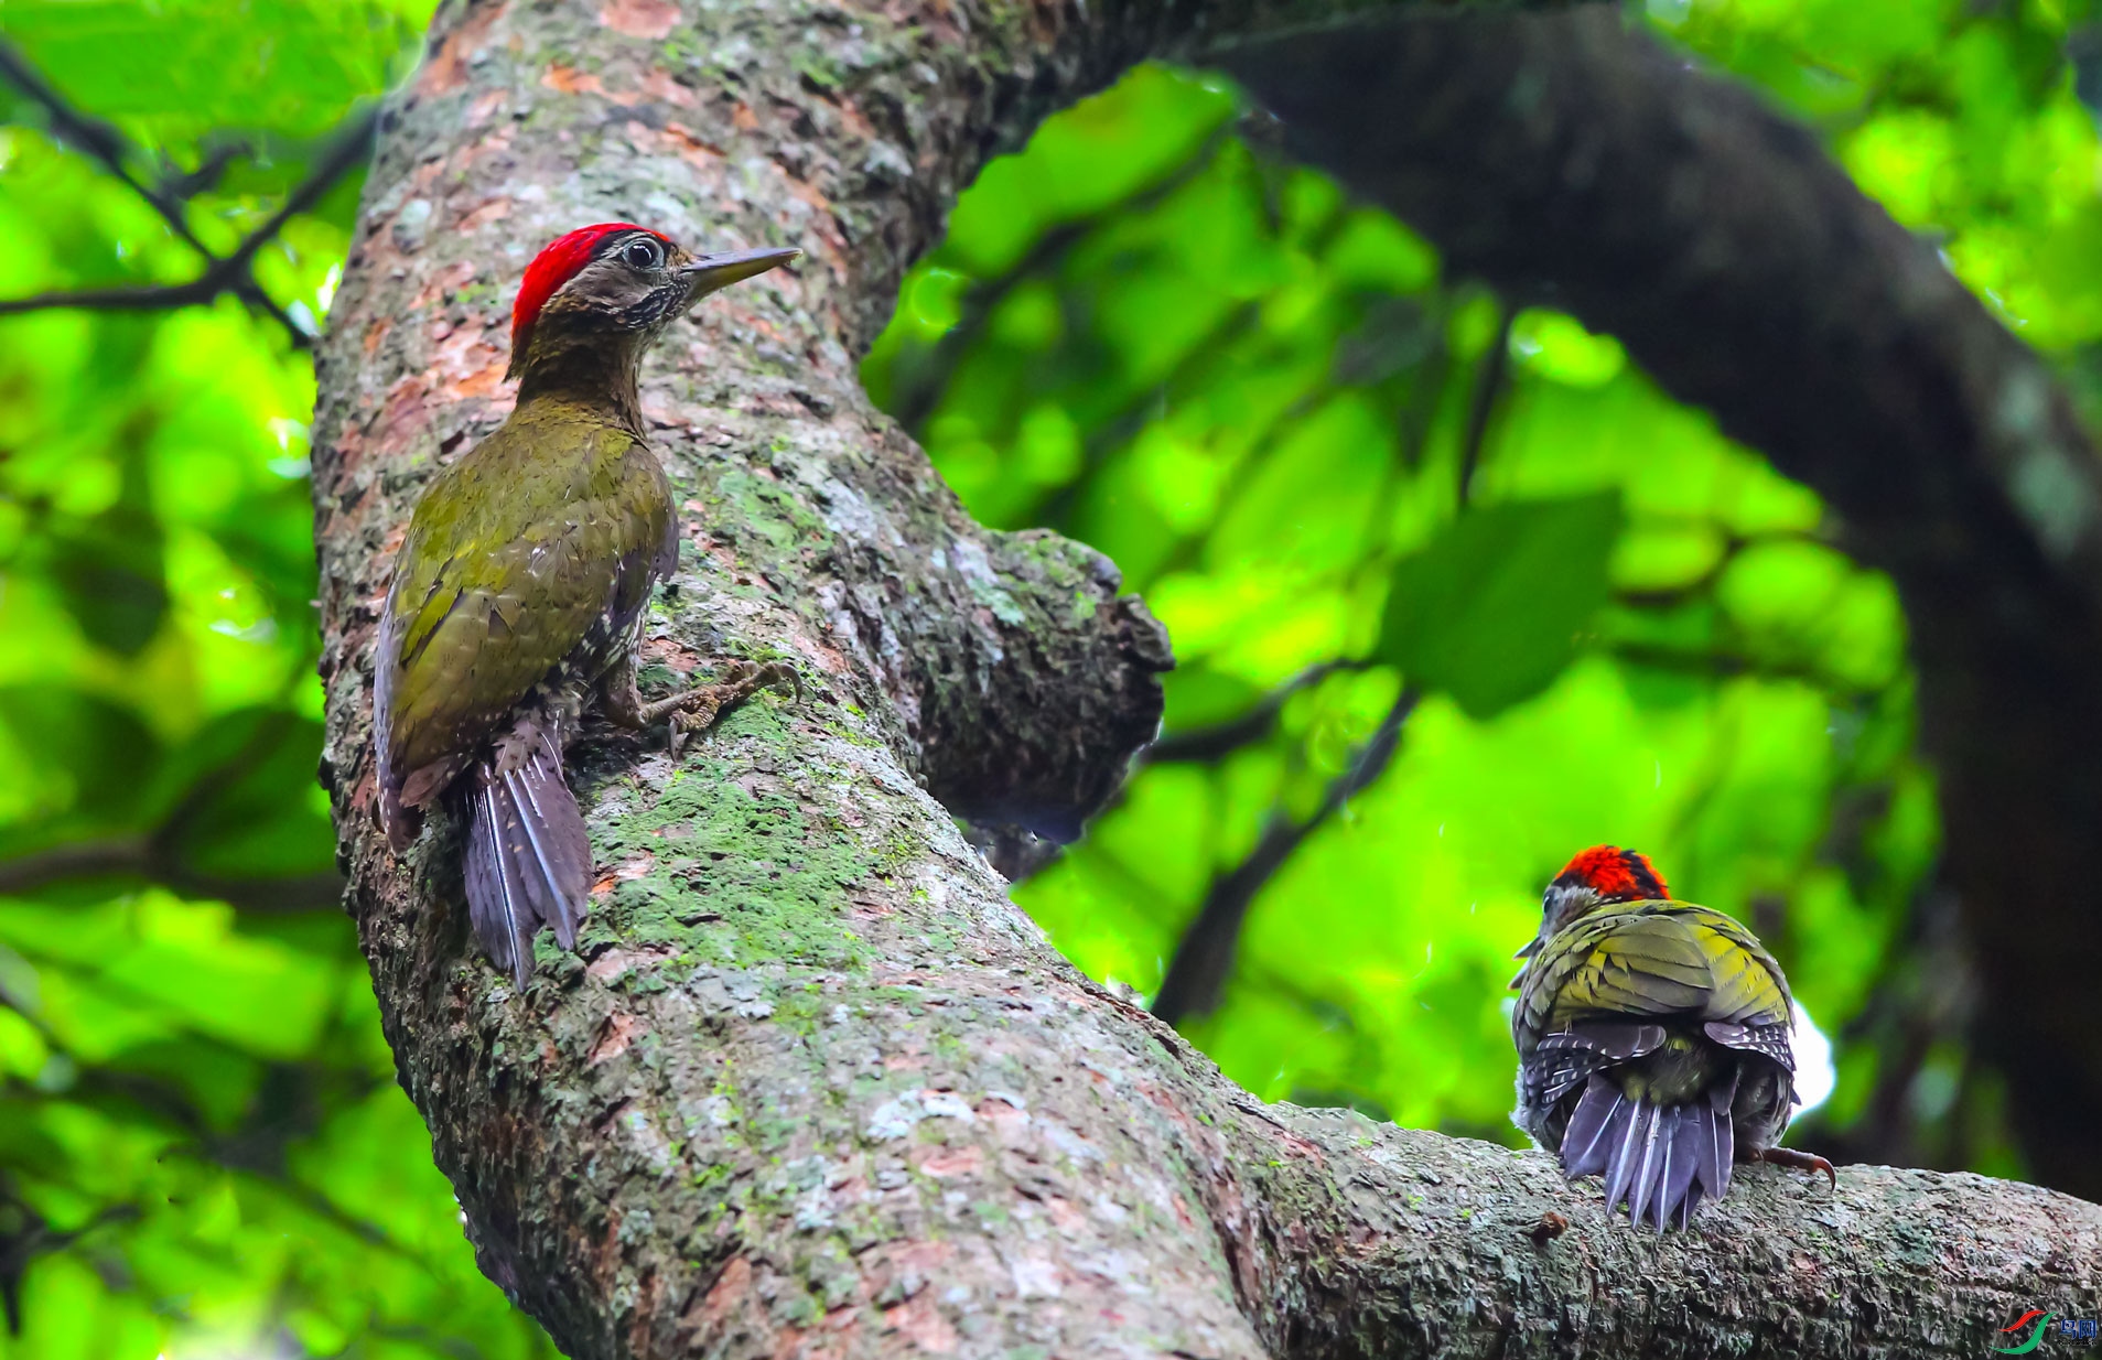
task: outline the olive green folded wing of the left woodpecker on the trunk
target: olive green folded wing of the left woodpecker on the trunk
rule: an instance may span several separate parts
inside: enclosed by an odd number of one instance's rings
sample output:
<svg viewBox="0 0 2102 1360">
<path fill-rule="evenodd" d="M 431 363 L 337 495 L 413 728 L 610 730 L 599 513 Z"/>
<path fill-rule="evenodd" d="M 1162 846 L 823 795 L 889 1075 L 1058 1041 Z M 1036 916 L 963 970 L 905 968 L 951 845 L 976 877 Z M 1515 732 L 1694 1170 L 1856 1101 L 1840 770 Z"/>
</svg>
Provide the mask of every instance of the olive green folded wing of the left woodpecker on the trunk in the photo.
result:
<svg viewBox="0 0 2102 1360">
<path fill-rule="evenodd" d="M 561 448 L 563 439 L 574 448 Z M 551 439 L 555 446 L 551 446 Z M 668 496 L 612 427 L 504 425 L 416 504 L 387 597 L 389 774 L 435 795 L 494 725 L 593 635 L 647 599 Z M 521 479 L 538 477 L 534 494 Z M 433 769 L 431 786 L 414 771 Z"/>
</svg>

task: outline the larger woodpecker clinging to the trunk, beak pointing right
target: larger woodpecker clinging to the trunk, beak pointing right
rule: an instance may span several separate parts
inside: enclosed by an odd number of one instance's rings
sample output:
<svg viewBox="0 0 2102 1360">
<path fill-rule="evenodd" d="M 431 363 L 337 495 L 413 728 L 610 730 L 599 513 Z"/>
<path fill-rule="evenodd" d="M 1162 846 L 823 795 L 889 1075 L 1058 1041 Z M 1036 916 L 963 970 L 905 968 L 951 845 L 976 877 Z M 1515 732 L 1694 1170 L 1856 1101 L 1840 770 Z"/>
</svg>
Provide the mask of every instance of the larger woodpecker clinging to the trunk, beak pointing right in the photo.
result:
<svg viewBox="0 0 2102 1360">
<path fill-rule="evenodd" d="M 635 645 L 679 559 L 671 483 L 637 393 L 643 351 L 696 298 L 797 250 L 687 254 L 635 223 L 580 227 L 526 267 L 511 416 L 416 502 L 372 673 L 380 822 L 408 849 L 425 807 L 467 822 L 467 910 L 523 988 L 542 923 L 576 946 L 591 839 L 563 778 L 589 704 L 624 727 L 715 710 L 778 673 L 643 704 Z M 698 719 L 698 721 L 694 721 Z"/>
</svg>

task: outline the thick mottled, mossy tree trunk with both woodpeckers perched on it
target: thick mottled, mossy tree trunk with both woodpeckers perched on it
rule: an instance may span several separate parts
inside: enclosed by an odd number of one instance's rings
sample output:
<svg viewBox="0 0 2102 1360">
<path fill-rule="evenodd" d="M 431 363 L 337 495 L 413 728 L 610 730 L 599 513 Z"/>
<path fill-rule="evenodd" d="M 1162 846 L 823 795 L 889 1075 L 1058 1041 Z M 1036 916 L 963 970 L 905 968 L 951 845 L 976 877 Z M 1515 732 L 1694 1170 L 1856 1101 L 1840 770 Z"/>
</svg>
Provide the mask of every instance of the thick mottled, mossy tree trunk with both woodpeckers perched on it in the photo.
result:
<svg viewBox="0 0 2102 1360">
<path fill-rule="evenodd" d="M 322 353 L 324 774 L 490 1274 L 578 1358 L 1970 1356 L 2022 1307 L 2102 1312 L 2102 1213 L 2041 1190 L 1747 1169 L 1658 1242 L 1537 1154 L 1265 1108 L 1066 967 L 963 843 L 942 799 L 1070 832 L 1150 734 L 1165 645 L 1093 553 L 971 526 L 853 357 L 988 149 L 1194 27 L 984 0 L 439 17 Z M 685 513 L 645 687 L 742 656 L 805 692 L 677 761 L 574 753 L 601 881 L 578 954 L 519 994 L 467 940 L 456 843 L 393 858 L 372 822 L 372 624 L 416 488 L 509 401 L 528 254 L 616 217 L 809 252 L 708 301 L 643 395 Z"/>
</svg>

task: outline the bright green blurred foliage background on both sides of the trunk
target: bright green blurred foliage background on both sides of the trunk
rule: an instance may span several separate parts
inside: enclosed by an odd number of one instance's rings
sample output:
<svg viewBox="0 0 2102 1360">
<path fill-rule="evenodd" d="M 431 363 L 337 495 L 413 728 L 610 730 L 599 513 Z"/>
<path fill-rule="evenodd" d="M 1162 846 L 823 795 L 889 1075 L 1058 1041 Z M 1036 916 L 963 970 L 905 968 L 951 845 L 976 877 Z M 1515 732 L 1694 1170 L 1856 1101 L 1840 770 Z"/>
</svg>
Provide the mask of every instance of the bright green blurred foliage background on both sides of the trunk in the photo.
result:
<svg viewBox="0 0 2102 1360">
<path fill-rule="evenodd" d="M 187 208 L 225 250 L 404 74 L 427 11 L 8 0 L 0 32 L 141 177 L 233 147 Z M 2102 153 L 2066 57 L 2102 86 L 2085 4 L 1650 19 L 1814 120 L 2102 412 Z M 1833 1036 L 1837 1091 L 1795 1141 L 2018 1175 L 1946 1005 L 1890 582 L 1614 341 L 1444 280 L 1392 219 L 1251 151 L 1238 114 L 1150 67 L 1047 124 L 956 208 L 866 366 L 982 519 L 1116 557 L 1175 637 L 1171 731 L 1371 662 L 1217 763 L 1139 771 L 1017 900 L 1150 994 L 1211 881 L 1314 809 L 1406 679 L 1425 700 L 1392 767 L 1263 889 L 1225 1005 L 1186 1026 L 1230 1074 L 1513 1141 L 1509 954 L 1562 860 L 1621 841 L 1753 921 Z M 4 86 L 0 118 L 0 296 L 195 273 Z M 259 261 L 301 324 L 353 210 L 338 187 Z M 107 879 L 0 898 L 0 1360 L 551 1349 L 473 1268 L 349 923 L 256 910 L 332 864 L 311 410 L 307 355 L 233 301 L 0 320 L 0 872 L 172 826 L 164 881 L 259 881 L 246 910 Z"/>
</svg>

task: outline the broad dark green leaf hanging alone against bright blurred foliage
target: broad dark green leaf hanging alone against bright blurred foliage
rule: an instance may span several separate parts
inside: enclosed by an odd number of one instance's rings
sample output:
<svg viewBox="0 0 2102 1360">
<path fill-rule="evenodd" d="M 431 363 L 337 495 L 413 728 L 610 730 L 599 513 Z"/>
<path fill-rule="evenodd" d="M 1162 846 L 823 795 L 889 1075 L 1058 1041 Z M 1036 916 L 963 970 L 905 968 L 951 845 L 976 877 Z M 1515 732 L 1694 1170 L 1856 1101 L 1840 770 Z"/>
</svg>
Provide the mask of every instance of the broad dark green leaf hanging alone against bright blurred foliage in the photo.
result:
<svg viewBox="0 0 2102 1360">
<path fill-rule="evenodd" d="M 1606 603 L 1621 496 L 1511 500 L 1467 511 L 1404 557 L 1387 586 L 1379 660 L 1476 719 L 1545 689 Z"/>
</svg>

